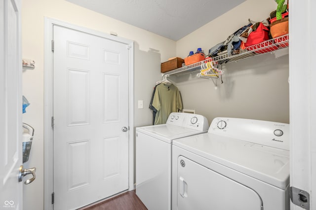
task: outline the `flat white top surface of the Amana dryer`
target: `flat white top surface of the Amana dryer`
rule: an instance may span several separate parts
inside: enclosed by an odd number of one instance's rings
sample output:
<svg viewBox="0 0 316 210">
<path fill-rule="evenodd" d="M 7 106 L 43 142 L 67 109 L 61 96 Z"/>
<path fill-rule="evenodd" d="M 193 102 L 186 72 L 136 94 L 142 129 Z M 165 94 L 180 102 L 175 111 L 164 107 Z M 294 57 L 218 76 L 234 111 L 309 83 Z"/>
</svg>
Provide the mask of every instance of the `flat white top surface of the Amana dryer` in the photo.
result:
<svg viewBox="0 0 316 210">
<path fill-rule="evenodd" d="M 209 133 L 174 140 L 173 144 L 281 189 L 289 183 L 288 150 Z"/>
</svg>

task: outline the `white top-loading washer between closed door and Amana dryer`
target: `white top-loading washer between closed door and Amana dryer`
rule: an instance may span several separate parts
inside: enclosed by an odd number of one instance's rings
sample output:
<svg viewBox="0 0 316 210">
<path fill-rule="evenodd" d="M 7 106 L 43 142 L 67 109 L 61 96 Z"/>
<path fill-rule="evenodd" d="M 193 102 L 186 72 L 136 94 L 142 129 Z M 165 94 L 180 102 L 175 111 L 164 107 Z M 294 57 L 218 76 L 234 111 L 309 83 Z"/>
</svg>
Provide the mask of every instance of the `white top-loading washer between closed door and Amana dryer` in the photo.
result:
<svg viewBox="0 0 316 210">
<path fill-rule="evenodd" d="M 136 195 L 149 210 L 171 210 L 172 140 L 206 133 L 207 119 L 173 112 L 166 124 L 136 128 Z"/>
</svg>

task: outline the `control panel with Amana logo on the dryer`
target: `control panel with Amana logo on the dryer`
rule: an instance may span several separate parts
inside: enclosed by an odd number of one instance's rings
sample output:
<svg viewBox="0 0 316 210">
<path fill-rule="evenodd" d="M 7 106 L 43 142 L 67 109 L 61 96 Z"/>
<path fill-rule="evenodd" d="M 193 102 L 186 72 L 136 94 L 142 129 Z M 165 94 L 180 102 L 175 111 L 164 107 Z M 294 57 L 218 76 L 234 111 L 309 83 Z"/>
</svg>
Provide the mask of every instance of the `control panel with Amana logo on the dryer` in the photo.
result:
<svg viewBox="0 0 316 210">
<path fill-rule="evenodd" d="M 208 133 L 289 150 L 289 124 L 216 117 Z"/>
</svg>

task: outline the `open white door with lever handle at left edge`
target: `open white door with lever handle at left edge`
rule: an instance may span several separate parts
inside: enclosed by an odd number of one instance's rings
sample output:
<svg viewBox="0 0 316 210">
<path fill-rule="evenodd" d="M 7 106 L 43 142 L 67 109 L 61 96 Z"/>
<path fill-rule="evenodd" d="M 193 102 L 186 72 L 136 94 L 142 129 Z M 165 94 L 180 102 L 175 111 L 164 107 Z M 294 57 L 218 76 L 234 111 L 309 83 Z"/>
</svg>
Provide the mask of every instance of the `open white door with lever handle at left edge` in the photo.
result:
<svg viewBox="0 0 316 210">
<path fill-rule="evenodd" d="M 0 209 L 22 209 L 20 0 L 0 1 Z"/>
</svg>

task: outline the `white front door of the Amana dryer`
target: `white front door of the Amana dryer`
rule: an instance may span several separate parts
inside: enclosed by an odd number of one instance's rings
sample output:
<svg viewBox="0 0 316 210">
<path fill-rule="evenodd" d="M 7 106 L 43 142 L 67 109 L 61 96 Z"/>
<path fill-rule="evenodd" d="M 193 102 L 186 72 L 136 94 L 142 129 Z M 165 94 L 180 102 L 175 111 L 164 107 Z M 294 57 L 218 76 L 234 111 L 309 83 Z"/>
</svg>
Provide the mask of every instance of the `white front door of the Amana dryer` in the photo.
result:
<svg viewBox="0 0 316 210">
<path fill-rule="evenodd" d="M 178 157 L 178 210 L 261 210 L 260 196 L 245 185 L 183 156 Z"/>
</svg>

